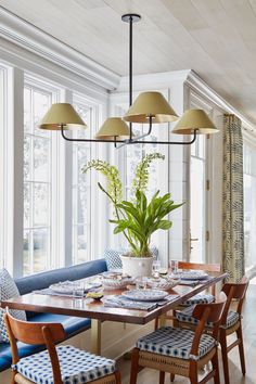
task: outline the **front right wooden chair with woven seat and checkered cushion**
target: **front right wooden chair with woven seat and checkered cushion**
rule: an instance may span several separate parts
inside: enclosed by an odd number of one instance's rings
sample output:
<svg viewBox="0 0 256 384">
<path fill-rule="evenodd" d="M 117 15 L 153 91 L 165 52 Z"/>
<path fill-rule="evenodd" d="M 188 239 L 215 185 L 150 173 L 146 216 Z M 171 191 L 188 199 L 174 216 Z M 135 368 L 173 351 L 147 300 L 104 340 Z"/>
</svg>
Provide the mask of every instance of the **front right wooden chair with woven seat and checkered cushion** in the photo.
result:
<svg viewBox="0 0 256 384">
<path fill-rule="evenodd" d="M 137 383 L 138 372 L 143 368 L 159 371 L 159 384 L 165 382 L 165 372 L 189 377 L 192 384 L 206 383 L 214 377 L 219 384 L 218 330 L 227 296 L 221 293 L 218 303 L 199 304 L 193 316 L 199 320 L 195 331 L 172 327 L 161 328 L 141 337 L 131 355 L 130 384 Z M 207 321 L 214 323 L 212 335 L 204 333 Z M 212 370 L 199 382 L 197 371 L 208 361 Z"/>
</svg>

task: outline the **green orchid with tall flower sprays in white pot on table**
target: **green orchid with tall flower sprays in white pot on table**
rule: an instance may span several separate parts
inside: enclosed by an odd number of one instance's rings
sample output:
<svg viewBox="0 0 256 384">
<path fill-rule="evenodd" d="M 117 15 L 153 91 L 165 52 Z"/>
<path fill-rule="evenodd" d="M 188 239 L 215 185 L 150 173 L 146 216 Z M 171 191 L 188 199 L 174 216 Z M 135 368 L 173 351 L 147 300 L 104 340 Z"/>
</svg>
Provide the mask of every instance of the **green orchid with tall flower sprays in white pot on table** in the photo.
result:
<svg viewBox="0 0 256 384">
<path fill-rule="evenodd" d="M 164 155 L 151 153 L 138 164 L 130 201 L 123 200 L 123 184 L 115 166 L 95 159 L 82 167 L 84 172 L 94 168 L 106 177 L 106 188 L 103 188 L 100 182 L 98 184 L 113 206 L 114 218 L 110 219 L 110 222 L 115 225 L 114 233 L 123 233 L 128 242 L 129 252 L 121 256 L 121 261 L 125 272 L 131 276 L 151 274 L 152 234 L 161 229 L 169 230 L 172 222 L 167 216 L 183 204 L 175 204 L 169 193 L 161 196 L 159 191 L 156 191 L 151 199 L 146 197 L 149 168 L 154 159 L 164 159 Z"/>
</svg>

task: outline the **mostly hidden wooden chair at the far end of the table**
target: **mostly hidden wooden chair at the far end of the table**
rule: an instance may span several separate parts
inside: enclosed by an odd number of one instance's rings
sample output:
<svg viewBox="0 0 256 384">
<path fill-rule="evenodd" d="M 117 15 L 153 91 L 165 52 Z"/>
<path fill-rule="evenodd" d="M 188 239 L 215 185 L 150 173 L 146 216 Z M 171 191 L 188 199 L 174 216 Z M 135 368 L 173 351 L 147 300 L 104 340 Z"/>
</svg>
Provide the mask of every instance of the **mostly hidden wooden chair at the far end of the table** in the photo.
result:
<svg viewBox="0 0 256 384">
<path fill-rule="evenodd" d="M 187 263 L 187 261 L 178 261 L 178 269 L 183 270 L 200 270 L 204 272 L 221 272 L 220 264 L 197 264 L 197 263 Z M 172 313 L 166 315 L 166 320 L 172 320 L 174 325 L 178 327 L 176 321 L 176 310 L 182 309 L 183 307 L 190 307 L 195 304 L 205 304 L 213 303 L 216 296 L 216 285 L 210 287 L 210 294 L 199 294 L 195 295 L 188 300 L 185 300 L 181 306 L 177 307 L 172 310 Z M 155 330 L 158 328 L 158 318 L 155 319 Z"/>
</svg>

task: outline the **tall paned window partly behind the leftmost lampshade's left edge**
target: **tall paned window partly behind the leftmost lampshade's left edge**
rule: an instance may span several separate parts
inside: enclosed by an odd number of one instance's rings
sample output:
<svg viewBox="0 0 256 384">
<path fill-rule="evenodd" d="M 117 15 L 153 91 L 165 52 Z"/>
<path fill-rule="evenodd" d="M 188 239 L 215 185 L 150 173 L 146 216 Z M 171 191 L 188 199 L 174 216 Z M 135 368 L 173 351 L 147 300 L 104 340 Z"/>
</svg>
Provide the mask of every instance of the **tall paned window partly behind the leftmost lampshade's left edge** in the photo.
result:
<svg viewBox="0 0 256 384">
<path fill-rule="evenodd" d="M 24 274 L 50 269 L 52 226 L 52 132 L 37 128 L 54 101 L 47 88 L 24 89 Z"/>
</svg>

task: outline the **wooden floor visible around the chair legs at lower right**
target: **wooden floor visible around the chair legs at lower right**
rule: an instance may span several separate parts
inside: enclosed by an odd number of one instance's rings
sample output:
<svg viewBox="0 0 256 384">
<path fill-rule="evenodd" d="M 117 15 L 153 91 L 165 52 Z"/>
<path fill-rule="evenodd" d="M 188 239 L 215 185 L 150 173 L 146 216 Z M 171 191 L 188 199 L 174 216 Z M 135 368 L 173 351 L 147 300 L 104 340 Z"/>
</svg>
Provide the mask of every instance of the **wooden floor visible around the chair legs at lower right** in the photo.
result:
<svg viewBox="0 0 256 384">
<path fill-rule="evenodd" d="M 242 376 L 240 370 L 240 360 L 238 347 L 229 354 L 229 371 L 230 384 L 256 384 L 256 284 L 251 284 L 248 287 L 246 303 L 243 311 L 243 328 L 244 328 L 244 347 L 246 359 L 246 375 Z M 230 341 L 232 337 L 230 337 Z M 219 355 L 220 357 L 220 355 Z M 221 358 L 219 359 L 221 364 Z M 129 384 L 130 361 L 120 359 L 118 368 L 121 372 L 121 383 Z M 185 384 L 190 381 L 176 376 L 174 383 Z M 158 373 L 156 371 L 144 369 L 139 373 L 138 384 L 157 384 Z M 166 374 L 165 383 L 170 383 L 169 375 Z M 208 382 L 210 384 L 214 381 Z M 220 366 L 220 383 L 225 384 L 222 375 L 222 367 Z"/>
</svg>

